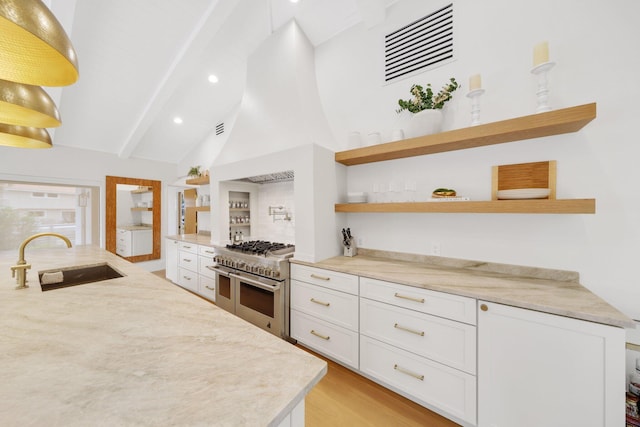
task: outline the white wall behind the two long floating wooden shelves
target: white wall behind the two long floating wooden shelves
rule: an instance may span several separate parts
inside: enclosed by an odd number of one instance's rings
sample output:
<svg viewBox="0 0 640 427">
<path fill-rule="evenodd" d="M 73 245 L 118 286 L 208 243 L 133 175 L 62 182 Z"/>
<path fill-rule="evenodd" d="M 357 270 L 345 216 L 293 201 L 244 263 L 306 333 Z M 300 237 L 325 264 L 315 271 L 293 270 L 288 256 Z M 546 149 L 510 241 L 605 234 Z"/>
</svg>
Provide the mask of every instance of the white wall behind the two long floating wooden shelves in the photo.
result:
<svg viewBox="0 0 640 427">
<path fill-rule="evenodd" d="M 446 112 L 448 129 L 470 122 L 468 77 L 481 73 L 485 122 L 532 114 L 533 46 L 548 40 L 551 104 L 597 102 L 597 118 L 582 131 L 465 151 L 348 168 L 348 191 L 374 182 L 410 179 L 430 192 L 453 187 L 490 199 L 491 166 L 558 161 L 558 198 L 595 198 L 595 215 L 349 214 L 367 248 L 578 271 L 581 283 L 640 319 L 636 263 L 640 253 L 640 155 L 636 138 L 640 70 L 640 2 L 634 0 L 485 0 L 454 2 L 457 60 L 387 86 L 381 84 L 381 37 L 442 2 L 400 0 L 385 23 L 354 27 L 316 48 L 320 96 L 337 140 L 351 130 L 398 126 L 398 98 L 413 83 L 435 87 L 456 77 L 463 87 Z"/>
</svg>

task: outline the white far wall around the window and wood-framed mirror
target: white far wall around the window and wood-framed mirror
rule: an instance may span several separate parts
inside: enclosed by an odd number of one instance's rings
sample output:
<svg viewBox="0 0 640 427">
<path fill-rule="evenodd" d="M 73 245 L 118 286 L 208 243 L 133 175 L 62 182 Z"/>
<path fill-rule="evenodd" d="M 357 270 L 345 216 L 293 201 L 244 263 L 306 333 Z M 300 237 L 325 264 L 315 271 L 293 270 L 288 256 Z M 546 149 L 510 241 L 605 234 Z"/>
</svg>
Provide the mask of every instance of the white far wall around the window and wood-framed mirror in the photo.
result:
<svg viewBox="0 0 640 427">
<path fill-rule="evenodd" d="M 56 146 L 46 150 L 27 150 L 0 146 L 0 179 L 41 181 L 100 187 L 100 246 L 104 247 L 105 177 L 107 175 L 162 181 L 162 218 L 167 182 L 175 179 L 175 165 L 138 159 L 121 159 L 116 155 Z M 92 200 L 92 203 L 95 200 Z M 163 227 L 164 236 L 164 227 Z M 163 239 L 164 241 L 164 239 Z M 164 252 L 163 252 L 164 253 Z M 139 263 L 148 270 L 161 270 L 164 260 Z"/>
</svg>

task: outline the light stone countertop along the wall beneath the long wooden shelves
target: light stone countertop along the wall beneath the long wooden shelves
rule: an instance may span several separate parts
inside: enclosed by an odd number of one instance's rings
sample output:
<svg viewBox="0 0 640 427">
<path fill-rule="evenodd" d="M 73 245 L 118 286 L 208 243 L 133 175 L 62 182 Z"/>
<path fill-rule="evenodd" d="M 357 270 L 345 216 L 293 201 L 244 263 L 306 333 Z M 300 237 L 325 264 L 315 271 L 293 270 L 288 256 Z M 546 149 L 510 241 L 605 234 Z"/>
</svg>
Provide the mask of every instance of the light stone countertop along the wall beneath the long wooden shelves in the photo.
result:
<svg viewBox="0 0 640 427">
<path fill-rule="evenodd" d="M 358 249 L 337 256 L 292 263 L 447 292 L 575 319 L 635 328 L 635 322 L 593 294 L 570 271 L 491 264 L 452 258 Z M 292 285 L 293 286 L 293 285 Z"/>
</svg>

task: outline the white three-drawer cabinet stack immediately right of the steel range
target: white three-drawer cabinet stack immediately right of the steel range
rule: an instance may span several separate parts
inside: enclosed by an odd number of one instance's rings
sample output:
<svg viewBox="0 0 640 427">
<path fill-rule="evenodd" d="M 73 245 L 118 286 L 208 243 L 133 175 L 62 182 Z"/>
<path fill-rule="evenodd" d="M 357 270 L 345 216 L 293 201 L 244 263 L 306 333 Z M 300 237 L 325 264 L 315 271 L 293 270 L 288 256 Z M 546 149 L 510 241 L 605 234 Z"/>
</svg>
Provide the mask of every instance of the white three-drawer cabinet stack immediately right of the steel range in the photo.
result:
<svg viewBox="0 0 640 427">
<path fill-rule="evenodd" d="M 291 337 L 358 369 L 358 276 L 293 264 Z"/>
</svg>

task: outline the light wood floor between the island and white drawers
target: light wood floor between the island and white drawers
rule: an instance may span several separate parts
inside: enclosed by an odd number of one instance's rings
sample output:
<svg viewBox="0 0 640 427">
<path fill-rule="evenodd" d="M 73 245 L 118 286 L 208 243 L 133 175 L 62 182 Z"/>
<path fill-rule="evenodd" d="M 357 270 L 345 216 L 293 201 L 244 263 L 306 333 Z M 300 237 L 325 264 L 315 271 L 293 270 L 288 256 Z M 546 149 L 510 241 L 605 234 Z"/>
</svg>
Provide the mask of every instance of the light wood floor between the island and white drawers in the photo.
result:
<svg viewBox="0 0 640 427">
<path fill-rule="evenodd" d="M 453 427 L 458 424 L 302 347 L 329 364 L 305 400 L 307 427 Z"/>
</svg>

